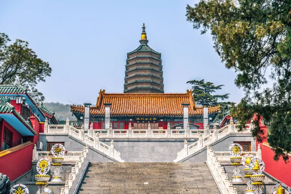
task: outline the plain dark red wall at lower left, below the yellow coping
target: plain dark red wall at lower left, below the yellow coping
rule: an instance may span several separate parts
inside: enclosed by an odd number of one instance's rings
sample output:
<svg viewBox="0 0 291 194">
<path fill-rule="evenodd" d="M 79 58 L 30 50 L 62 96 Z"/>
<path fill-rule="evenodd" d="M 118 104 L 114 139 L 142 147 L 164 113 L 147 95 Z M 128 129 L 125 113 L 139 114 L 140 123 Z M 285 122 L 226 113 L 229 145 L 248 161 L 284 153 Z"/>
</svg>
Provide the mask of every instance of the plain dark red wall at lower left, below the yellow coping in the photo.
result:
<svg viewBox="0 0 291 194">
<path fill-rule="evenodd" d="M 0 172 L 7 175 L 10 181 L 15 180 L 32 169 L 33 144 L 10 154 L 0 156 Z"/>
</svg>

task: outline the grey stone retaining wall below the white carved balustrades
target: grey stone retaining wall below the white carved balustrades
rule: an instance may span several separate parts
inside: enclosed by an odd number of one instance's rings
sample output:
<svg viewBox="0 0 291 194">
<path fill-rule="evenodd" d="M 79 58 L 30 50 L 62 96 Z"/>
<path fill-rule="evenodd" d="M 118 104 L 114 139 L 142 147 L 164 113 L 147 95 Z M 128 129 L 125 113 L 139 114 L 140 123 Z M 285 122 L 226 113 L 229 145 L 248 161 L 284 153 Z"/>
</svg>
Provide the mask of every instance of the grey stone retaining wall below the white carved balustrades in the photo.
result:
<svg viewBox="0 0 291 194">
<path fill-rule="evenodd" d="M 112 139 L 99 139 L 110 145 Z M 80 140 L 67 134 L 41 133 L 39 141 L 43 143 L 46 150 L 48 143 L 65 143 L 67 151 L 81 151 L 85 146 Z M 188 146 L 197 139 L 187 139 Z M 251 150 L 256 150 L 256 143 L 251 134 L 230 133 L 224 138 L 210 144 L 214 151 L 228 151 L 233 142 L 251 142 Z M 120 152 L 124 162 L 173 162 L 177 158 L 177 152 L 184 147 L 183 139 L 114 139 L 114 149 Z M 117 162 L 99 150 L 89 146 L 90 162 Z M 205 162 L 207 160 L 207 147 L 198 150 L 194 154 L 184 158 L 180 162 Z"/>
</svg>

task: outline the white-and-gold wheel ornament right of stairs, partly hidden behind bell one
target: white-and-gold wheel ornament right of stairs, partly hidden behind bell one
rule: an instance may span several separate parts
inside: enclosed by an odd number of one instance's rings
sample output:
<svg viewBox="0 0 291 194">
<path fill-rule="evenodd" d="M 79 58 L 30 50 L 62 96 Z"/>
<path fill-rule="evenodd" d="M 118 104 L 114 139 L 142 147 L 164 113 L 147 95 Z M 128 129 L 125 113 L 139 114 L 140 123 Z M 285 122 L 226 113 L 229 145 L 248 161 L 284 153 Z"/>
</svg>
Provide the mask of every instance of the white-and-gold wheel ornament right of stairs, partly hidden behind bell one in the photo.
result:
<svg viewBox="0 0 291 194">
<path fill-rule="evenodd" d="M 251 154 L 246 154 L 242 156 L 242 165 L 245 166 L 243 173 L 245 174 L 244 178 L 246 179 L 246 189 L 244 194 L 255 194 L 254 186 L 252 185 L 251 176 L 253 175 L 252 170 L 249 168 L 249 163 L 254 158 Z"/>
</svg>

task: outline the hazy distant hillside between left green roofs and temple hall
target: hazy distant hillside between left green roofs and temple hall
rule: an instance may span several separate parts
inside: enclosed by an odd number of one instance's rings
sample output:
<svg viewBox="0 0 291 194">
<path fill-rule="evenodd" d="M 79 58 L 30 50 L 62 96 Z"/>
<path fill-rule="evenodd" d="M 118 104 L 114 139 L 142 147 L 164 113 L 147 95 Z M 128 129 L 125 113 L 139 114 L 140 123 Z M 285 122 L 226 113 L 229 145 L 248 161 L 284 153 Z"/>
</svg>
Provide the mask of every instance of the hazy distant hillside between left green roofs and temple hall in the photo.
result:
<svg viewBox="0 0 291 194">
<path fill-rule="evenodd" d="M 70 121 L 75 121 L 76 117 L 72 116 L 71 107 L 69 104 L 61 104 L 60 102 L 45 102 L 44 106 L 55 112 L 55 117 L 58 120 L 64 121 L 69 118 Z"/>
</svg>

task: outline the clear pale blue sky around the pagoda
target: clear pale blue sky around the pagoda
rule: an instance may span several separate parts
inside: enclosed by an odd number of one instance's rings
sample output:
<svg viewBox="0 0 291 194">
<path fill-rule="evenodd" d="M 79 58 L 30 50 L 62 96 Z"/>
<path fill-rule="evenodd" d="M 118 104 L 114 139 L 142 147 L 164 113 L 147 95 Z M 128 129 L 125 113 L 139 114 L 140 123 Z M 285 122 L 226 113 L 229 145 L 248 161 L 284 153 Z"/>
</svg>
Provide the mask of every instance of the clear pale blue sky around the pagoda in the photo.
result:
<svg viewBox="0 0 291 194">
<path fill-rule="evenodd" d="M 186 21 L 186 5 L 198 0 L 13 0 L 0 1 L 0 32 L 30 47 L 52 67 L 38 88 L 46 101 L 96 103 L 99 90 L 123 92 L 127 52 L 140 43 L 146 25 L 148 45 L 162 53 L 164 90 L 185 92 L 189 80 L 224 84 L 239 102 L 242 89 L 213 49 Z"/>
</svg>

